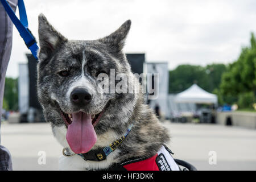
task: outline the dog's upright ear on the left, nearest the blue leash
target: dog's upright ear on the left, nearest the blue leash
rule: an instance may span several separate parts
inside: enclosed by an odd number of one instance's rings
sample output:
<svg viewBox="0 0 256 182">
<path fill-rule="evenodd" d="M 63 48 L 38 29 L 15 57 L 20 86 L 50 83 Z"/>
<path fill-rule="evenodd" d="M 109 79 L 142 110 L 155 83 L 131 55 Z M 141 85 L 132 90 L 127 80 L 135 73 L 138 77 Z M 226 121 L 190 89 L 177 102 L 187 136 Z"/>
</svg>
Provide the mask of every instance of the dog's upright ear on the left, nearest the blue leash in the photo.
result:
<svg viewBox="0 0 256 182">
<path fill-rule="evenodd" d="M 55 28 L 51 26 L 51 24 L 49 24 L 46 16 L 43 14 L 38 16 L 38 23 L 40 44 L 39 59 L 45 60 L 52 54 L 53 51 L 56 50 L 58 46 L 60 46 L 61 43 L 67 41 L 67 39 L 57 32 Z"/>
</svg>

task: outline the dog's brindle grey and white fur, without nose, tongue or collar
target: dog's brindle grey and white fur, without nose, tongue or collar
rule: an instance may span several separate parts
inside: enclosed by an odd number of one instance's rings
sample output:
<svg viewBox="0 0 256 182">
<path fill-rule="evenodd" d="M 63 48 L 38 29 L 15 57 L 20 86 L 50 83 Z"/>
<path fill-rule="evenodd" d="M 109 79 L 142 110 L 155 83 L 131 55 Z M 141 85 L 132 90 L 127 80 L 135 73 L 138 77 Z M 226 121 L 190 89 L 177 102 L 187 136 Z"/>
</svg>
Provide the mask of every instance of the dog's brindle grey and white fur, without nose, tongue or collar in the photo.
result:
<svg viewBox="0 0 256 182">
<path fill-rule="evenodd" d="M 97 142 L 92 149 L 108 146 L 125 134 L 131 123 L 134 124 L 128 137 L 106 160 L 92 162 L 79 155 L 63 156 L 61 169 L 105 169 L 129 158 L 150 157 L 170 139 L 154 112 L 143 104 L 143 94 L 97 92 L 97 73 L 102 70 L 107 74 L 110 69 L 115 69 L 115 74 L 133 75 L 122 52 L 130 25 L 131 21 L 127 20 L 118 30 L 98 40 L 68 40 L 48 23 L 44 15 L 39 15 L 38 98 L 44 117 L 51 122 L 53 134 L 60 144 L 69 147 L 65 138 L 67 127 L 59 108 L 65 113 L 82 110 L 97 114 L 105 107 L 95 127 Z M 71 74 L 61 77 L 58 73 L 65 69 Z M 69 99 L 72 89 L 77 86 L 93 93 L 90 104 L 82 108 L 73 106 Z M 133 82 L 132 86 L 139 88 L 139 81 Z"/>
</svg>

